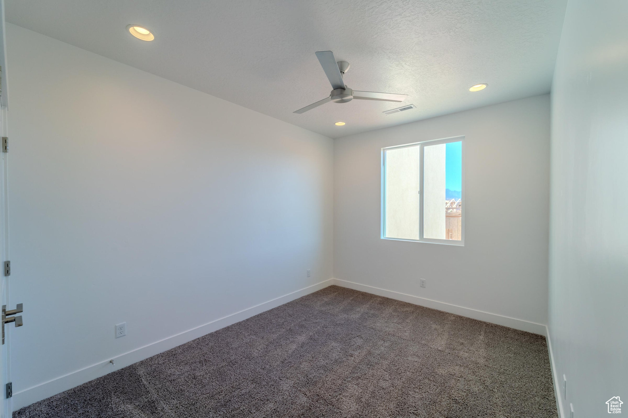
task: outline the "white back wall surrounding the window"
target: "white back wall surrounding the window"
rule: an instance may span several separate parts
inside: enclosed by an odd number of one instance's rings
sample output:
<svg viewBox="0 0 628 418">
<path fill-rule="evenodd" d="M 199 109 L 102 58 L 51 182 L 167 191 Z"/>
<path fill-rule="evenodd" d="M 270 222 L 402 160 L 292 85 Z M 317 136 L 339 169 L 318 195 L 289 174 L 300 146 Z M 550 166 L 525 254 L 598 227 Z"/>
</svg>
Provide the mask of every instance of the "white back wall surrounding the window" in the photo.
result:
<svg viewBox="0 0 628 418">
<path fill-rule="evenodd" d="M 381 148 L 457 135 L 465 246 L 381 239 Z M 546 323 L 549 95 L 339 138 L 334 160 L 336 279 Z"/>
</svg>

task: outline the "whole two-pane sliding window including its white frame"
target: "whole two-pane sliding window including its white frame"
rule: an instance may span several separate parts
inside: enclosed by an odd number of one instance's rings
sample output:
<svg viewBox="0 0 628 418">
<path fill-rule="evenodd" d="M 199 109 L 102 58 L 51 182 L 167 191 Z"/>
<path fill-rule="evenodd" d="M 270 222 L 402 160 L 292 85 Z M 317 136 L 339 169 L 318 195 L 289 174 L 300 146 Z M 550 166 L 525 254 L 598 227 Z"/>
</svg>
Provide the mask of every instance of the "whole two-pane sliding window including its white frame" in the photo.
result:
<svg viewBox="0 0 628 418">
<path fill-rule="evenodd" d="M 463 142 L 382 149 L 382 238 L 463 244 Z"/>
</svg>

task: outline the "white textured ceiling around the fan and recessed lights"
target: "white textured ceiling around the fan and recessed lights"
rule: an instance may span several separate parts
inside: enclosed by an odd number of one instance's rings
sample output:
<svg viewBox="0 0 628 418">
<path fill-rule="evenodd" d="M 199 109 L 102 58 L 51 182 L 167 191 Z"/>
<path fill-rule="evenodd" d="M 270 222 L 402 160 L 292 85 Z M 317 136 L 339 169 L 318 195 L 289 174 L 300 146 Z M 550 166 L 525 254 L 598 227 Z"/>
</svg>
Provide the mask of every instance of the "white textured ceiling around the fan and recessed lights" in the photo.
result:
<svg viewBox="0 0 628 418">
<path fill-rule="evenodd" d="M 337 138 L 547 93 L 565 6 L 566 0 L 6 0 L 5 7 L 10 23 Z M 151 29 L 155 40 L 133 38 L 126 31 L 131 23 Z M 408 98 L 292 113 L 329 95 L 314 55 L 322 50 L 349 61 L 349 87 Z M 476 83 L 489 87 L 469 92 Z M 417 108 L 382 113 L 410 103 Z"/>
</svg>

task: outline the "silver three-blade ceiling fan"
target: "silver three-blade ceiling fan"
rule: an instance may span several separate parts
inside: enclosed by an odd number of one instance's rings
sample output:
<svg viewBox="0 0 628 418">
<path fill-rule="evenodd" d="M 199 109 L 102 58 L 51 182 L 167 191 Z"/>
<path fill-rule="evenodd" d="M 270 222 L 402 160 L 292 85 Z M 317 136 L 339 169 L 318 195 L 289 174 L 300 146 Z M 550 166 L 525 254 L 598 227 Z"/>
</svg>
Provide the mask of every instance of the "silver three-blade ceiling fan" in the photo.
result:
<svg viewBox="0 0 628 418">
<path fill-rule="evenodd" d="M 296 110 L 293 113 L 303 113 L 311 110 L 315 107 L 323 105 L 327 102 L 335 103 L 347 103 L 354 98 L 360 100 L 382 100 L 384 102 L 403 102 L 408 95 L 397 95 L 394 93 L 376 93 L 374 91 L 357 91 L 351 90 L 345 85 L 342 76 L 349 70 L 349 63 L 347 61 L 338 61 L 333 58 L 332 51 L 318 51 L 316 53 L 320 65 L 325 71 L 325 75 L 332 83 L 332 92 L 329 97 L 319 100 L 316 103 L 312 103 L 309 106 Z"/>
</svg>

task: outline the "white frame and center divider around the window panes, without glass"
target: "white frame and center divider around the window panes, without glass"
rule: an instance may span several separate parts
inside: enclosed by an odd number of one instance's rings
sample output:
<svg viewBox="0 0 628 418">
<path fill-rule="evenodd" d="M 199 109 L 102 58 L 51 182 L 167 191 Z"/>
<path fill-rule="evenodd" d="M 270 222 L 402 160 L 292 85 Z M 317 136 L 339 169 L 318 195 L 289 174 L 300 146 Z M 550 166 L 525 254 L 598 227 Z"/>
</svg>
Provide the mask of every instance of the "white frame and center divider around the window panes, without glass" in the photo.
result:
<svg viewBox="0 0 628 418">
<path fill-rule="evenodd" d="M 447 144 L 448 142 L 461 142 L 461 154 L 462 154 L 462 191 L 460 195 L 460 199 L 462 199 L 462 231 L 460 231 L 460 241 L 455 239 L 433 239 L 433 238 L 424 238 L 423 237 L 423 149 L 427 145 L 438 145 L 438 144 Z M 420 190 L 418 193 L 419 197 L 419 211 L 421 214 L 420 222 L 419 222 L 419 239 L 407 239 L 407 238 L 389 238 L 386 236 L 386 151 L 394 150 L 400 148 L 408 148 L 408 147 L 420 147 L 419 155 L 420 155 L 420 177 L 419 184 Z M 381 239 L 392 239 L 393 241 L 409 241 L 411 243 L 432 243 L 432 244 L 446 244 L 446 245 L 458 245 L 463 246 L 465 244 L 465 214 L 467 210 L 465 208 L 465 137 L 464 135 L 460 135 L 458 137 L 450 137 L 450 138 L 441 138 L 434 140 L 427 140 L 421 142 L 414 142 L 414 144 L 404 144 L 404 145 L 395 145 L 394 147 L 385 147 L 382 148 L 382 176 L 381 176 Z M 443 209 L 445 209 L 443 207 Z"/>
</svg>

